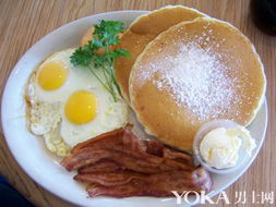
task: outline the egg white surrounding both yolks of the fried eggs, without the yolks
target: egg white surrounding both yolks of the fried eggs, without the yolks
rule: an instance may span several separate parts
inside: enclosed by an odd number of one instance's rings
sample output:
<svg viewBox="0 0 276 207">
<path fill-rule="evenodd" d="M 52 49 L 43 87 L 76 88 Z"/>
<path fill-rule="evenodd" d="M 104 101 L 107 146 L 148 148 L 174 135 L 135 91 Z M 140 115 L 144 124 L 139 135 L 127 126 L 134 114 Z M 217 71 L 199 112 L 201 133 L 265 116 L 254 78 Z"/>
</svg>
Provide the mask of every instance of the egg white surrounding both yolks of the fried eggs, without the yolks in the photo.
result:
<svg viewBox="0 0 276 207">
<path fill-rule="evenodd" d="M 53 53 L 37 68 L 27 83 L 31 132 L 43 135 L 47 148 L 58 156 L 68 155 L 70 148 L 77 143 L 122 127 L 128 122 L 128 106 L 124 100 L 115 102 L 87 69 L 74 68 L 70 62 L 73 52 L 74 49 L 67 49 Z M 45 90 L 37 82 L 38 70 L 49 61 L 61 61 L 68 70 L 68 80 L 55 90 Z M 99 72 L 96 71 L 97 75 L 104 80 Z M 64 113 L 69 97 L 77 90 L 92 92 L 97 99 L 96 117 L 85 124 L 70 122 Z"/>
</svg>

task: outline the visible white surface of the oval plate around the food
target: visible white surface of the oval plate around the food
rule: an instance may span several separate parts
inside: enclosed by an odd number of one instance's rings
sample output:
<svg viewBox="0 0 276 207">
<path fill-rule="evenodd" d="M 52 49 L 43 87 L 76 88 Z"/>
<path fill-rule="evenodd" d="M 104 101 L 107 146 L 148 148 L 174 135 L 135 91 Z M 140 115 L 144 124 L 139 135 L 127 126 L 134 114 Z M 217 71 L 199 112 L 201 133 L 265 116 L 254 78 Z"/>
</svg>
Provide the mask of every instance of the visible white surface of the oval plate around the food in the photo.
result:
<svg viewBox="0 0 276 207">
<path fill-rule="evenodd" d="M 146 11 L 118 11 L 97 14 L 84 17 L 67 24 L 37 41 L 17 62 L 13 69 L 4 88 L 2 98 L 2 125 L 7 143 L 19 165 L 38 184 L 49 192 L 80 206 L 109 206 L 109 207 L 142 207 L 147 206 L 179 206 L 176 198 L 156 197 L 130 197 L 130 198 L 109 198 L 97 197 L 88 198 L 84 186 L 75 182 L 72 176 L 60 165 L 59 159 L 48 153 L 44 142 L 32 135 L 26 130 L 24 86 L 35 69 L 50 53 L 74 47 L 79 45 L 80 38 L 85 31 L 98 20 L 122 21 L 129 25 L 135 17 Z M 228 187 L 239 179 L 255 159 L 263 141 L 265 138 L 267 124 L 266 101 L 262 106 L 253 123 L 249 126 L 253 137 L 256 139 L 257 148 L 253 156 L 236 173 L 228 175 L 212 174 L 214 192 L 212 196 Z"/>
</svg>

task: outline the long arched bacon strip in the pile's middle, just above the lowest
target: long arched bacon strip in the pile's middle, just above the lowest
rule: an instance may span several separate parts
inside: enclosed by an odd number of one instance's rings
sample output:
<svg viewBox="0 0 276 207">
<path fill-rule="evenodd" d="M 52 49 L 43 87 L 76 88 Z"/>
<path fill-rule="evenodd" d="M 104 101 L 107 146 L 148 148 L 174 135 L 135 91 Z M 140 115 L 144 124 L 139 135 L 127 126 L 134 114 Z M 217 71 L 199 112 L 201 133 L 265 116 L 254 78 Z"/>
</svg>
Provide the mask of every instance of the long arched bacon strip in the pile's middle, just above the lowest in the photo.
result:
<svg viewBox="0 0 276 207">
<path fill-rule="evenodd" d="M 110 159 L 122 166 L 124 169 L 143 172 L 158 173 L 173 169 L 192 170 L 193 168 L 181 162 L 141 154 L 129 149 L 120 148 L 93 148 L 87 147 L 80 150 L 75 156 L 64 158 L 61 162 L 69 171 L 95 163 L 101 159 Z M 65 165 L 64 165 L 65 163 Z"/>
</svg>

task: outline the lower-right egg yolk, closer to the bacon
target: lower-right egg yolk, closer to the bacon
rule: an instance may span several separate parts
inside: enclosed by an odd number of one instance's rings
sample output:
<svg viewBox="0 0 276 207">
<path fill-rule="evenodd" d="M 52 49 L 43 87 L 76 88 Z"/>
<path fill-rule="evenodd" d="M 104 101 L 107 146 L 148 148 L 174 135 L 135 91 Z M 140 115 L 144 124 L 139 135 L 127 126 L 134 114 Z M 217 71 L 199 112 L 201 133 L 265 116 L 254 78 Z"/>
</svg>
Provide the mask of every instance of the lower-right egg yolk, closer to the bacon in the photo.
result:
<svg viewBox="0 0 276 207">
<path fill-rule="evenodd" d="M 75 92 L 65 105 L 65 115 L 74 124 L 84 124 L 94 120 L 96 112 L 96 96 L 87 90 Z"/>
</svg>

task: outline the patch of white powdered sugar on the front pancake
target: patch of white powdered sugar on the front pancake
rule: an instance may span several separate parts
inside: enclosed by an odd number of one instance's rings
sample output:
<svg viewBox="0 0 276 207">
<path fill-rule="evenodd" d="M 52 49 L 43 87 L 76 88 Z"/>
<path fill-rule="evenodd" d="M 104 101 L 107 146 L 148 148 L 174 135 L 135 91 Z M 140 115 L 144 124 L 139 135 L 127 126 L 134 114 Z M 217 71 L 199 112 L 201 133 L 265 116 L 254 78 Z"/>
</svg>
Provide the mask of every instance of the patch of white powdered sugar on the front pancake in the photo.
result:
<svg viewBox="0 0 276 207">
<path fill-rule="evenodd" d="M 235 80 L 227 75 L 227 66 L 219 53 L 191 42 L 179 46 L 177 57 L 168 58 L 171 68 L 149 65 L 145 80 L 154 78 L 155 86 L 170 92 L 178 106 L 185 106 L 200 120 L 217 118 L 225 113 L 233 100 Z"/>
</svg>

